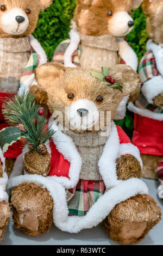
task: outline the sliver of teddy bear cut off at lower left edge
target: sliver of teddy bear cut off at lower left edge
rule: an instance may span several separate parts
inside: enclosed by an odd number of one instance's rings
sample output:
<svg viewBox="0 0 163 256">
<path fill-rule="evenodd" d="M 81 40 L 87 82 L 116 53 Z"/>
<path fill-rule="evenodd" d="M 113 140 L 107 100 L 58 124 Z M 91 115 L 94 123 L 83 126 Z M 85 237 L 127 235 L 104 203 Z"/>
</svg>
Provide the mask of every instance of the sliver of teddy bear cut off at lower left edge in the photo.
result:
<svg viewBox="0 0 163 256">
<path fill-rule="evenodd" d="M 6 192 L 8 175 L 5 173 L 5 159 L 0 148 L 0 242 L 10 220 L 9 197 Z"/>
</svg>

